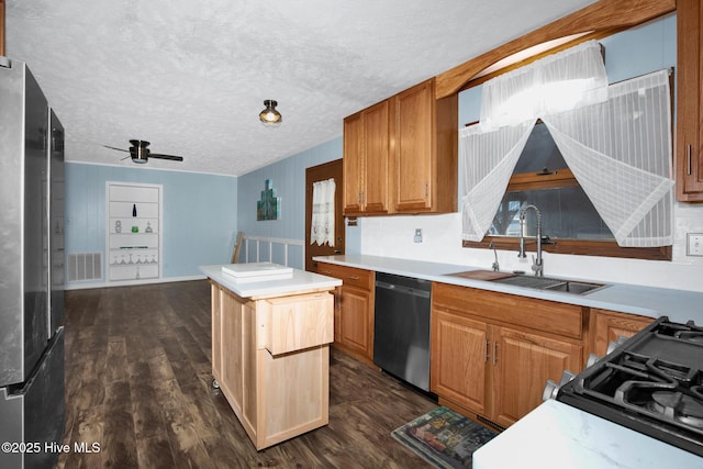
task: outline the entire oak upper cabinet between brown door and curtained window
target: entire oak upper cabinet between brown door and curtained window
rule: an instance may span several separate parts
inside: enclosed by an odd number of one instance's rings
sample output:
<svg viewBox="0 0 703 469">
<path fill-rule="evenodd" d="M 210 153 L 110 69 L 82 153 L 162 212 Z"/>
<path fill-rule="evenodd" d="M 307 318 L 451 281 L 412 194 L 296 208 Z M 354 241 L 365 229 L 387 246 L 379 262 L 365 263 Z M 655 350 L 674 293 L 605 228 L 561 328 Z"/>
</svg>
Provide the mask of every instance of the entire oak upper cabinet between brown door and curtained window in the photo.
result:
<svg viewBox="0 0 703 469">
<path fill-rule="evenodd" d="M 344 214 L 457 211 L 458 96 L 429 79 L 344 120 Z"/>
</svg>

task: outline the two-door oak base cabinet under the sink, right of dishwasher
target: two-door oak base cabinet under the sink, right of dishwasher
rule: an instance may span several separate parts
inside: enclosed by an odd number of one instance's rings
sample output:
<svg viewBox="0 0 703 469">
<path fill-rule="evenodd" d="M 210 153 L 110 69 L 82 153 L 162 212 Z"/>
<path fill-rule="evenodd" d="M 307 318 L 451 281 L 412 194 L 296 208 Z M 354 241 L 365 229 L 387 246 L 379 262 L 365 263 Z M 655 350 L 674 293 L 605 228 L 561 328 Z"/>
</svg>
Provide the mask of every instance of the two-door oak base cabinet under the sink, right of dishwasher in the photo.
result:
<svg viewBox="0 0 703 469">
<path fill-rule="evenodd" d="M 537 407 L 548 379 L 583 364 L 581 306 L 433 283 L 431 390 L 507 427 Z"/>
</svg>

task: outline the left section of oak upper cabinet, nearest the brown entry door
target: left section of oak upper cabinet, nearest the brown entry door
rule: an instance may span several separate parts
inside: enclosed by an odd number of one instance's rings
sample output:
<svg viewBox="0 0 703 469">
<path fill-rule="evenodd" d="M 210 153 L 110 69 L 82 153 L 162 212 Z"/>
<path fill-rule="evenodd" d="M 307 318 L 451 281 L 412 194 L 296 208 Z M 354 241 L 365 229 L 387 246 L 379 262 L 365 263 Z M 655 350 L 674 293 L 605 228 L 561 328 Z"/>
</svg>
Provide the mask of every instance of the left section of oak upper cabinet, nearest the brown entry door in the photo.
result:
<svg viewBox="0 0 703 469">
<path fill-rule="evenodd" d="M 390 101 L 344 120 L 344 213 L 389 211 Z"/>
</svg>

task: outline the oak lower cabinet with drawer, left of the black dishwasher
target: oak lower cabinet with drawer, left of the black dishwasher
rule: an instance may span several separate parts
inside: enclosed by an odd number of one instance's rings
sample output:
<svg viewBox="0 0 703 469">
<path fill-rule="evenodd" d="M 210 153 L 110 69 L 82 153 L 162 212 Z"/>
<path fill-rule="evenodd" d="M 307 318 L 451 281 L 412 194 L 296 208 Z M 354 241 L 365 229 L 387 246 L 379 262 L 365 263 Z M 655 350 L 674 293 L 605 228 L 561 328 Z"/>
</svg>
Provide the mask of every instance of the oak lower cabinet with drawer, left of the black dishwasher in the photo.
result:
<svg viewBox="0 0 703 469">
<path fill-rule="evenodd" d="M 375 272 L 317 263 L 317 273 L 343 283 L 335 292 L 334 346 L 372 365 Z"/>
</svg>

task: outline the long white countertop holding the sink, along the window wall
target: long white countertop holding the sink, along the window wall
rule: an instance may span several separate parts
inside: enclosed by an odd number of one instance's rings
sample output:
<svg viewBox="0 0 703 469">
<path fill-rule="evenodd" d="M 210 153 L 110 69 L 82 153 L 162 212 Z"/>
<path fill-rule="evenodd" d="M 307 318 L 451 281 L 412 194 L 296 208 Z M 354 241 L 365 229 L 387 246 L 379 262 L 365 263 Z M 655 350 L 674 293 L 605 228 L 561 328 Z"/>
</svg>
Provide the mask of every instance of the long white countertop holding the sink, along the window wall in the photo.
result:
<svg viewBox="0 0 703 469">
<path fill-rule="evenodd" d="M 364 255 L 322 256 L 315 257 L 314 260 L 648 317 L 669 316 L 672 322 L 684 323 L 693 320 L 696 325 L 703 325 L 703 293 L 694 291 L 610 283 L 606 288 L 587 294 L 571 294 L 447 276 L 469 270 L 488 270 L 482 267 Z M 570 280 L 592 282 L 583 279 Z"/>
</svg>

